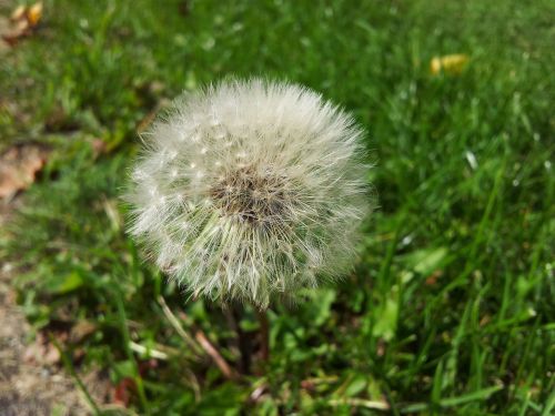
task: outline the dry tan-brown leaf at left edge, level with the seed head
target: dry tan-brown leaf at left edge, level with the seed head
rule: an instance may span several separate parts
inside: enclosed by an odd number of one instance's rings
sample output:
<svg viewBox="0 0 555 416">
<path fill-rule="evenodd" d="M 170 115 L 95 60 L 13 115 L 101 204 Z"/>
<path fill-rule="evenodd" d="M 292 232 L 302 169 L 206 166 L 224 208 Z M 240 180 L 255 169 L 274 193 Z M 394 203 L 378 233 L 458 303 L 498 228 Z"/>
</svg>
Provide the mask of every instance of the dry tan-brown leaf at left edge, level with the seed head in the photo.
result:
<svg viewBox="0 0 555 416">
<path fill-rule="evenodd" d="M 0 156 L 0 199 L 10 200 L 34 182 L 44 166 L 47 151 L 29 144 L 9 149 Z"/>
</svg>

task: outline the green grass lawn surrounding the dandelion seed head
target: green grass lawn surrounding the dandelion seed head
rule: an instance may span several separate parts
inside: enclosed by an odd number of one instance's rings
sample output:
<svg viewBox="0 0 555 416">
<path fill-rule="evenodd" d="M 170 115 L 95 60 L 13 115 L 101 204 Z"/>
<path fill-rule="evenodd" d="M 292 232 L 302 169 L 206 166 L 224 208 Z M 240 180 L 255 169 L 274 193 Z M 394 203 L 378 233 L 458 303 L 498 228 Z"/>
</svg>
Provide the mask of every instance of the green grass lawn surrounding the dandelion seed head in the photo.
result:
<svg viewBox="0 0 555 416">
<path fill-rule="evenodd" d="M 547 0 L 46 1 L 40 31 L 0 63 L 2 145 L 53 149 L 1 246 L 29 319 L 93 325 L 67 357 L 134 379 L 141 414 L 549 415 L 554 13 Z M 470 62 L 432 74 L 448 53 Z M 235 363 L 222 311 L 141 262 L 118 200 L 152 112 L 230 74 L 297 81 L 352 111 L 380 201 L 355 272 L 276 305 L 270 363 L 234 383 L 157 300 Z M 240 324 L 254 336 L 253 311 Z M 149 366 L 131 342 L 167 359 Z"/>
</svg>

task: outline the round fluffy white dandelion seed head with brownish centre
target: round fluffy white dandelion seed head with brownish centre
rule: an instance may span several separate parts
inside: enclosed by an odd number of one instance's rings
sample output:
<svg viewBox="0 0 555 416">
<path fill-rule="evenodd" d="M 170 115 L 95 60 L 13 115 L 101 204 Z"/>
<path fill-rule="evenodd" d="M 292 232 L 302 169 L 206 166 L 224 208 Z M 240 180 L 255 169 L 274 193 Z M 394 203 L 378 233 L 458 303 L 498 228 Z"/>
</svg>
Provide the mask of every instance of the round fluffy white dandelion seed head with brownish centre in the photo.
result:
<svg viewBox="0 0 555 416">
<path fill-rule="evenodd" d="M 352 267 L 370 207 L 361 138 L 299 85 L 254 79 L 184 95 L 144 135 L 129 231 L 194 295 L 265 306 L 315 287 Z"/>
</svg>

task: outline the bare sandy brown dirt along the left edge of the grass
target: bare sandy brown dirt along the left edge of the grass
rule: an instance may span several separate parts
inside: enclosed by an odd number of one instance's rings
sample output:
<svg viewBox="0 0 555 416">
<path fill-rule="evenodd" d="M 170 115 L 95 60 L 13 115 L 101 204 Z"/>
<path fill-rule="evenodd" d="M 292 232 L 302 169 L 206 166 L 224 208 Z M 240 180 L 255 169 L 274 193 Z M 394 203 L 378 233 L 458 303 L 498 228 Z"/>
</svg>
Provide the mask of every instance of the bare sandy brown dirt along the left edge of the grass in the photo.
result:
<svg viewBox="0 0 555 416">
<path fill-rule="evenodd" d="M 0 0 L 0 32 L 4 33 L 10 24 L 7 11 L 17 1 Z M 0 57 L 9 47 L 0 39 Z M 1 138 L 0 138 L 1 140 Z M 6 168 L 6 163 L 0 160 Z M 0 166 L 1 168 L 1 166 Z M 0 169 L 0 183 L 4 189 L 9 176 L 7 169 Z M 21 203 L 19 197 L 6 201 L 0 199 L 1 231 L 13 217 Z M 88 415 L 89 407 L 74 387 L 74 383 L 59 367 L 59 363 L 47 364 L 44 356 L 31 354 L 34 343 L 31 329 L 16 303 L 12 290 L 13 266 L 0 261 L 0 416 L 43 416 L 43 415 Z M 50 357 L 51 359 L 52 357 Z"/>
</svg>

